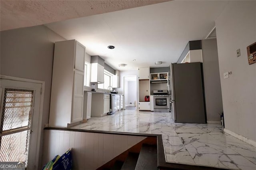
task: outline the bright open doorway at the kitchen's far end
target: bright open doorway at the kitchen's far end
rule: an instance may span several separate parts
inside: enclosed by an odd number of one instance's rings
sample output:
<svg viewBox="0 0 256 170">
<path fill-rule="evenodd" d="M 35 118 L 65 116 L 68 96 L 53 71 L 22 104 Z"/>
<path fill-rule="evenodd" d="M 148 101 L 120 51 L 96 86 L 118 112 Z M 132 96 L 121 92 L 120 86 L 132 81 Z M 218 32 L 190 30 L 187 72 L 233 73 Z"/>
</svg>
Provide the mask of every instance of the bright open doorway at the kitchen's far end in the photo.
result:
<svg viewBox="0 0 256 170">
<path fill-rule="evenodd" d="M 137 107 L 137 76 L 124 76 L 124 109 L 136 110 Z"/>
</svg>

